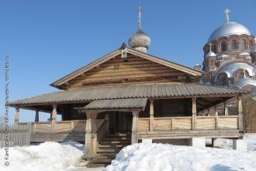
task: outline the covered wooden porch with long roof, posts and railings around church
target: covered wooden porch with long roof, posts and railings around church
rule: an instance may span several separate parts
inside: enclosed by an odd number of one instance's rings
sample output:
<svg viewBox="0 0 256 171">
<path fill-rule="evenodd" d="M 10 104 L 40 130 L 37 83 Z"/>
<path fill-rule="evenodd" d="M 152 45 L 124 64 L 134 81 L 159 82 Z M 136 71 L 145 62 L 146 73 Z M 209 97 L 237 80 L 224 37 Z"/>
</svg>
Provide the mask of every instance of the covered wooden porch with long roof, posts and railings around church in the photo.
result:
<svg viewBox="0 0 256 171">
<path fill-rule="evenodd" d="M 195 137 L 240 139 L 241 98 L 248 93 L 202 84 L 126 85 L 43 94 L 10 105 L 16 107 L 16 124 L 19 108 L 35 110 L 34 142 L 85 142 L 89 158 L 95 155 L 101 139 L 112 132 L 129 132 L 131 143 Z M 236 114 L 227 112 L 226 101 L 231 98 L 237 99 Z M 219 104 L 225 106 L 222 115 L 217 110 Z M 50 121 L 39 121 L 39 111 L 50 112 Z M 63 121 L 56 121 L 57 115 L 62 115 Z"/>
</svg>

